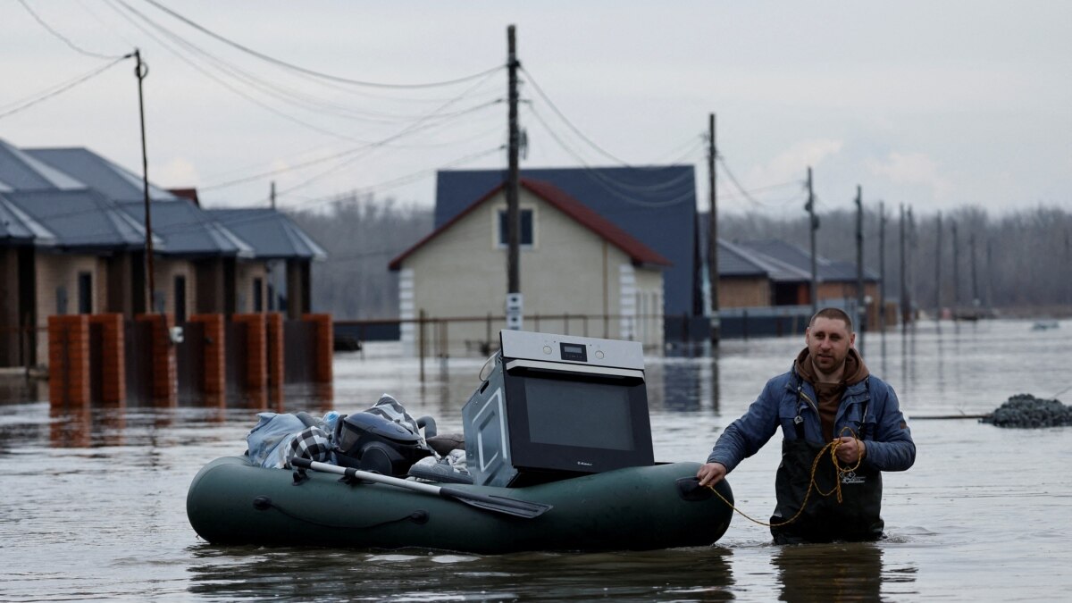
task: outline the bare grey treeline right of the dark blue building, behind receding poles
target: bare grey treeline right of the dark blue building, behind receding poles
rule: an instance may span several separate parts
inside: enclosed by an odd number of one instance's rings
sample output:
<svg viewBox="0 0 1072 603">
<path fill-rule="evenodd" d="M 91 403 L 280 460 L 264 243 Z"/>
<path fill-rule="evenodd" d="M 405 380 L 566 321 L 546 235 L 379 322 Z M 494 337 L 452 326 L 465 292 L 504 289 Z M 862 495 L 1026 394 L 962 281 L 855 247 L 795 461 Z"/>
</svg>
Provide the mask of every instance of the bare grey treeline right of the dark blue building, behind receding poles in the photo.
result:
<svg viewBox="0 0 1072 603">
<path fill-rule="evenodd" d="M 864 210 L 864 265 L 882 273 L 884 246 L 887 299 L 900 298 L 902 224 L 905 280 L 915 308 L 995 308 L 1014 313 L 1072 312 L 1072 214 L 1054 207 L 1019 209 L 1000 216 L 965 206 L 919 215 L 899 206 Z M 808 249 L 808 220 L 756 214 L 719 216 L 718 230 L 731 239 L 780 238 Z M 884 224 L 884 225 L 883 225 Z M 820 256 L 855 263 L 857 215 L 819 215 L 816 249 Z M 725 233 L 733 233 L 727 236 Z"/>
</svg>

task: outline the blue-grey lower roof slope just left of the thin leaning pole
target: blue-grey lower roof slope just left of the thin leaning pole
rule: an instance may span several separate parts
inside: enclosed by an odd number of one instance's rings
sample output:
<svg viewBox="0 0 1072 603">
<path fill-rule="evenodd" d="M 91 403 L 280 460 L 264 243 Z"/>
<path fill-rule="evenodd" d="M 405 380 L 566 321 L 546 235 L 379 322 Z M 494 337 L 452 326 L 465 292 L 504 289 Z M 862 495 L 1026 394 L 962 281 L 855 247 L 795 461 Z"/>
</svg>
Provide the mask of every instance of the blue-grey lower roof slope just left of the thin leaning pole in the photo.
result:
<svg viewBox="0 0 1072 603">
<path fill-rule="evenodd" d="M 145 229 L 92 189 L 13 191 L 3 194 L 18 210 L 47 229 L 56 247 L 129 250 L 145 245 Z M 161 251 L 166 249 L 164 241 L 157 236 L 153 236 L 153 246 Z"/>
</svg>

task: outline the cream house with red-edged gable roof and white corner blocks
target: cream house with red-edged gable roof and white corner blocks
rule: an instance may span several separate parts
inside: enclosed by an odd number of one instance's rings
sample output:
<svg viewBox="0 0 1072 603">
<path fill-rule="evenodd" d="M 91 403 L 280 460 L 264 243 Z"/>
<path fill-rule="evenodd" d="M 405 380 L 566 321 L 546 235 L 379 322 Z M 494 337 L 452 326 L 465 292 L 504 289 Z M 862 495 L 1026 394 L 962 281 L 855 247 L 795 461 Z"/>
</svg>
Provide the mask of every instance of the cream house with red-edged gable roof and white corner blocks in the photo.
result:
<svg viewBox="0 0 1072 603">
<path fill-rule="evenodd" d="M 667 258 L 550 182 L 522 177 L 518 206 L 523 328 L 662 345 Z M 495 343 L 507 289 L 505 216 L 505 185 L 496 182 L 390 262 L 406 350 L 419 342 L 410 321 L 421 315 L 498 317 L 494 327 L 491 319 L 448 322 L 441 338 L 449 353 Z"/>
</svg>

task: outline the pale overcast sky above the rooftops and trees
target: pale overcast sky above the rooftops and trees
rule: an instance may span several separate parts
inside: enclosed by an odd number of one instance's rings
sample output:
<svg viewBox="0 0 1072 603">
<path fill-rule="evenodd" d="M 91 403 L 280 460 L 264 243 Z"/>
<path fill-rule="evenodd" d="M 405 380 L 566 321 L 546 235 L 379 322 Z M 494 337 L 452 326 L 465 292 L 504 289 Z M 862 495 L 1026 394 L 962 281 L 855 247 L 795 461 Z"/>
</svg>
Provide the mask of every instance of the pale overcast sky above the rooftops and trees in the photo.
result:
<svg viewBox="0 0 1072 603">
<path fill-rule="evenodd" d="M 266 204 L 273 180 L 282 207 L 431 205 L 435 170 L 506 165 L 510 24 L 522 167 L 691 163 L 705 205 L 715 113 L 720 211 L 802 212 L 808 166 L 820 211 L 857 185 L 918 215 L 1072 210 L 1066 1 L 3 0 L 0 138 L 140 174 L 116 62 L 138 47 L 153 182 L 211 207 Z"/>
</svg>

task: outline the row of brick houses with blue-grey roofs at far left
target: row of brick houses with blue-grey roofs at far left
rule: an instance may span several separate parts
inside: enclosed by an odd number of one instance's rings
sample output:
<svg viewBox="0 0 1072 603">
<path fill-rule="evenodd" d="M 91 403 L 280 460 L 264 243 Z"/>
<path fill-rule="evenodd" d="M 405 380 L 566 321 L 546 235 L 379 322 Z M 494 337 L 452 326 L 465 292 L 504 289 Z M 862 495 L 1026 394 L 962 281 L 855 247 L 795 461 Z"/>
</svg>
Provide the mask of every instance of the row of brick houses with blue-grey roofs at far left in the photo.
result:
<svg viewBox="0 0 1072 603">
<path fill-rule="evenodd" d="M 152 185 L 149 194 L 151 302 L 142 178 L 84 148 L 19 149 L 0 141 L 0 367 L 45 362 L 47 341 L 38 334 L 50 314 L 132 318 L 151 309 L 181 323 L 193 313 L 260 312 L 278 306 L 292 280 L 298 295 L 288 314 L 309 311 L 308 262 L 325 254 L 286 216 L 217 215 Z M 285 234 L 269 242 L 250 234 L 252 224 Z M 273 262 L 295 271 L 279 291 L 269 283 Z"/>
</svg>

